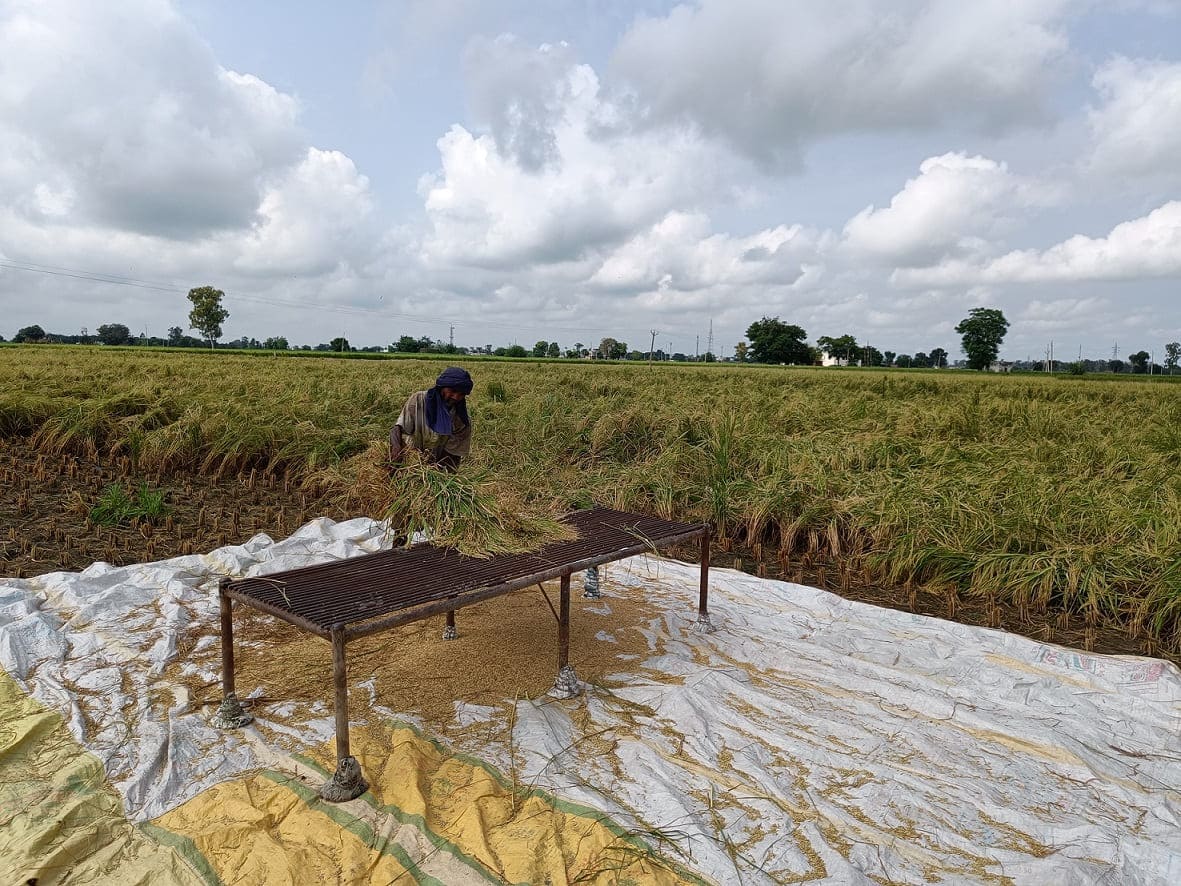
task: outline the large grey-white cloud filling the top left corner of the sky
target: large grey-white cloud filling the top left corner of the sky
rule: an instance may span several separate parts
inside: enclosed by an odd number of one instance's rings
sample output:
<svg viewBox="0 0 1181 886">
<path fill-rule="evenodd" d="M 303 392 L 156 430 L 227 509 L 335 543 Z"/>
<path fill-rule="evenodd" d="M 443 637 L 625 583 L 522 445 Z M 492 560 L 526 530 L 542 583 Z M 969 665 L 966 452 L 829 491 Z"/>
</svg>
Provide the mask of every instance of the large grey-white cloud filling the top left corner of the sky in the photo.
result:
<svg viewBox="0 0 1181 886">
<path fill-rule="evenodd" d="M 246 227 L 266 176 L 300 158 L 295 99 L 220 67 L 165 4 L 8 4 L 0 84 L 0 195 L 34 217 Z"/>
</svg>

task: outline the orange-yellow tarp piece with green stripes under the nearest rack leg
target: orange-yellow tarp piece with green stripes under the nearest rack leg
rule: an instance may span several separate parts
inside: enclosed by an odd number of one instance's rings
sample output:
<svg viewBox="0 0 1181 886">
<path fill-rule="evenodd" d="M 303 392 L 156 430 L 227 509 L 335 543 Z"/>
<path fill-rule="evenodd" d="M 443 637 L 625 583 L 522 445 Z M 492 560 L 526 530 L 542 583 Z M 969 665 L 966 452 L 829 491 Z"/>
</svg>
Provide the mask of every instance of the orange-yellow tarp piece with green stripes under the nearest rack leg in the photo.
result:
<svg viewBox="0 0 1181 886">
<path fill-rule="evenodd" d="M 699 882 L 589 809 L 514 787 L 409 728 L 352 731 L 372 787 L 351 803 L 320 801 L 334 745 L 304 771 L 263 771 L 220 784 L 159 817 L 222 881 Z"/>
</svg>

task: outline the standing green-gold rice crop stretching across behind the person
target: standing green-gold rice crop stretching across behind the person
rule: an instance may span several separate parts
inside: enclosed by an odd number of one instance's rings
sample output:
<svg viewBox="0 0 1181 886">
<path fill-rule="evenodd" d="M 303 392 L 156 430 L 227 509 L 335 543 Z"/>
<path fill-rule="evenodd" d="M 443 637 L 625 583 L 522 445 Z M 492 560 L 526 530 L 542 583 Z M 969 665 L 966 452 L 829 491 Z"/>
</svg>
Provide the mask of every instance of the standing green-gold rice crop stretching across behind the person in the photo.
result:
<svg viewBox="0 0 1181 886">
<path fill-rule="evenodd" d="M 441 365 L 0 347 L 0 436 L 158 475 L 282 477 L 366 513 L 383 504 L 365 494 L 366 471 Z M 482 478 L 489 513 L 598 502 L 709 520 L 722 549 L 788 573 L 921 587 L 952 614 L 972 600 L 1117 626 L 1181 652 L 1181 386 L 464 365 L 476 436 L 463 474 Z"/>
</svg>

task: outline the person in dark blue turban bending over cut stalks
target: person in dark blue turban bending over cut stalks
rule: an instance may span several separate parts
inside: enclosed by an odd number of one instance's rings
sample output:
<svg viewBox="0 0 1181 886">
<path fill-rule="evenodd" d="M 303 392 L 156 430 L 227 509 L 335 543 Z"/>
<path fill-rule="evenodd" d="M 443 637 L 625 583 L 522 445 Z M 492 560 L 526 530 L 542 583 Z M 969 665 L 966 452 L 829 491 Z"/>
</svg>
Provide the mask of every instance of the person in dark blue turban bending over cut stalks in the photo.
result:
<svg viewBox="0 0 1181 886">
<path fill-rule="evenodd" d="M 456 471 L 471 450 L 471 419 L 464 403 L 471 393 L 471 376 L 448 366 L 428 391 L 406 399 L 390 431 L 390 470 L 402 464 L 406 449 L 417 449 L 429 464 Z"/>
</svg>

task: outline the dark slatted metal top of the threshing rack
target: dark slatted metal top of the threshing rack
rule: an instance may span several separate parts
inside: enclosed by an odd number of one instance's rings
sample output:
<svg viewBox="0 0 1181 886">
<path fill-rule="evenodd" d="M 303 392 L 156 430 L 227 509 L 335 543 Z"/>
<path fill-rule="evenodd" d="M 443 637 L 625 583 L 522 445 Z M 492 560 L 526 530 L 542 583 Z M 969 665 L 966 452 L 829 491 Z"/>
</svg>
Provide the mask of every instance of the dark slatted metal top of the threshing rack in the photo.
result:
<svg viewBox="0 0 1181 886">
<path fill-rule="evenodd" d="M 368 633 L 364 623 L 374 619 L 385 617 L 383 627 L 413 620 L 410 611 L 436 610 L 431 604 L 455 601 L 458 607 L 494 593 L 555 578 L 562 572 L 654 551 L 706 532 L 702 523 L 681 523 L 609 508 L 578 510 L 567 515 L 565 522 L 578 530 L 576 539 L 528 554 L 479 559 L 448 548 L 417 545 L 239 579 L 229 582 L 226 589 L 247 605 L 318 634 L 327 636 L 333 626 L 350 627 L 350 634 L 359 634 Z M 407 611 L 407 618 L 389 618 L 403 611 Z"/>
</svg>

